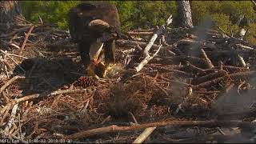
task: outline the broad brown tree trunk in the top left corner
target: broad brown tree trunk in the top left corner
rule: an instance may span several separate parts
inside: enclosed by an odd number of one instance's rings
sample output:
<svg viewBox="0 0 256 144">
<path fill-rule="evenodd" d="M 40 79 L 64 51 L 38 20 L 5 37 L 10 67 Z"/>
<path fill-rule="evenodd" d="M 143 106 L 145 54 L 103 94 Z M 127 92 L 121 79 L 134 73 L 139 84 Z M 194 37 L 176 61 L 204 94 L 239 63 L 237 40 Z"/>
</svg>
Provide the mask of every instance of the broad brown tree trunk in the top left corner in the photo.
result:
<svg viewBox="0 0 256 144">
<path fill-rule="evenodd" d="M 23 24 L 22 9 L 18 1 L 0 1 L 0 22 L 14 25 Z"/>
</svg>

